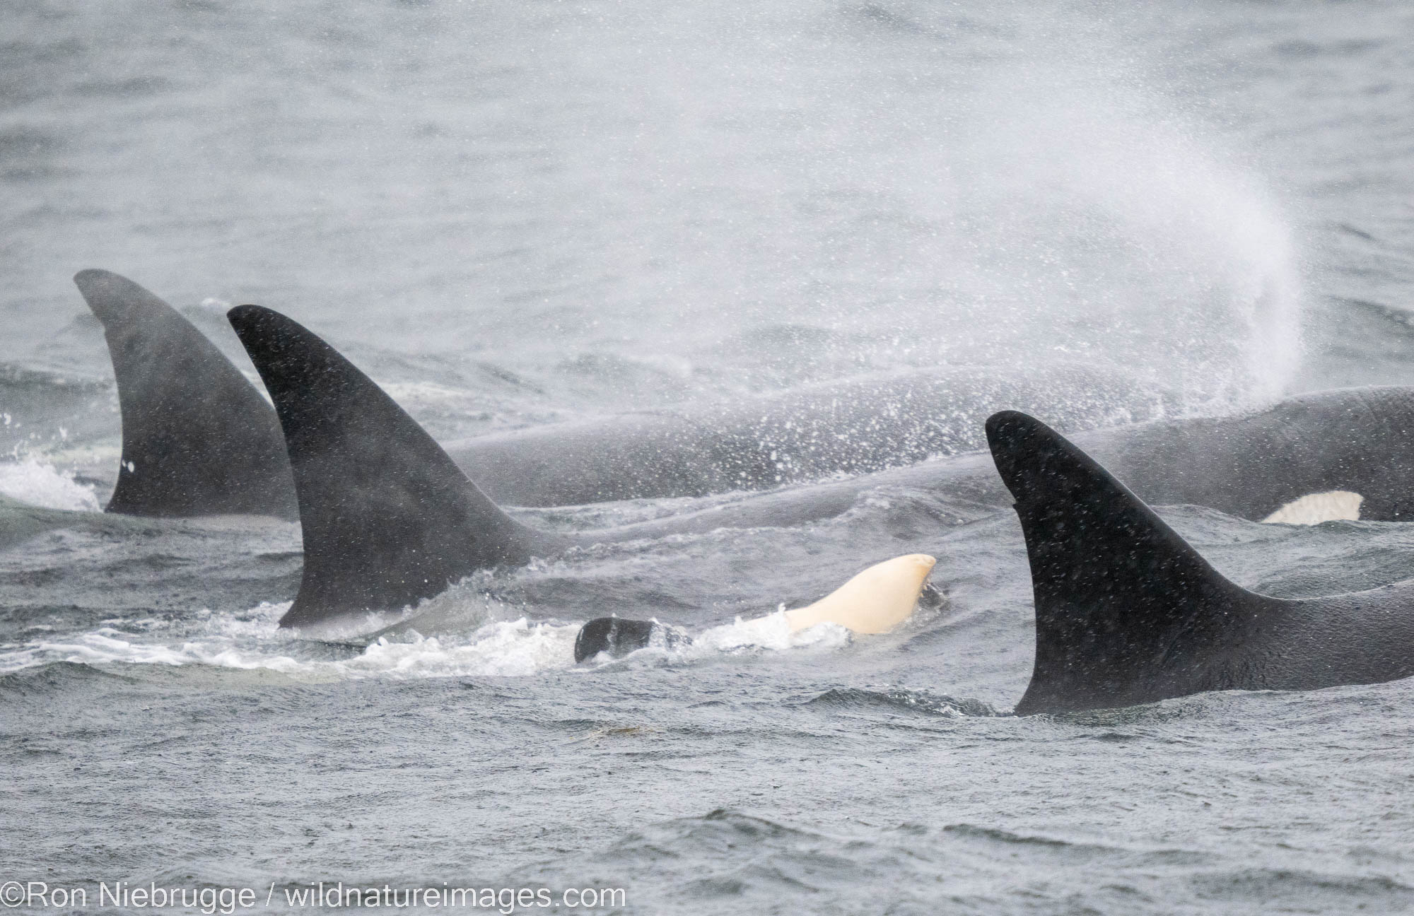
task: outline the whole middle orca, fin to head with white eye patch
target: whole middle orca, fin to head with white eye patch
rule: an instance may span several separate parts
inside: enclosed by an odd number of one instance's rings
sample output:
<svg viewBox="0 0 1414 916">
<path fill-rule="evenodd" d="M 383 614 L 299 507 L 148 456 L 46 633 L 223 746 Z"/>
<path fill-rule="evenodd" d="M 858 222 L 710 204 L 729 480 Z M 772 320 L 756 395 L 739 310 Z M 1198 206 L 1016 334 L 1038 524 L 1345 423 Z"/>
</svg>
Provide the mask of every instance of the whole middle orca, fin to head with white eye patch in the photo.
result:
<svg viewBox="0 0 1414 916">
<path fill-rule="evenodd" d="M 378 384 L 318 336 L 256 305 L 232 310 L 230 321 L 284 427 L 304 522 L 304 580 L 286 625 L 399 609 L 475 570 L 575 546 L 803 524 L 846 512 L 861 492 L 878 486 L 1008 503 L 988 457 L 973 454 L 778 489 L 639 524 L 536 532 L 509 519 Z M 1126 466 L 1141 492 L 1266 515 L 1309 492 L 1393 492 L 1414 479 L 1403 458 L 1414 450 L 1389 433 L 1369 445 L 1377 459 L 1363 455 L 1352 438 L 1331 450 L 1329 465 L 1321 461 L 1332 430 L 1365 435 L 1366 427 L 1357 424 L 1366 417 L 1373 417 L 1366 421 L 1372 428 L 1398 428 L 1401 416 L 1414 420 L 1414 390 L 1367 389 L 1305 396 L 1246 417 L 1123 427 L 1082 438 Z M 1284 462 L 1280 475 L 1268 474 L 1249 450 L 1275 454 Z M 1176 474 L 1171 462 L 1179 459 L 1192 459 L 1195 468 Z M 1219 499 L 1208 500 L 1208 493 Z"/>
</svg>

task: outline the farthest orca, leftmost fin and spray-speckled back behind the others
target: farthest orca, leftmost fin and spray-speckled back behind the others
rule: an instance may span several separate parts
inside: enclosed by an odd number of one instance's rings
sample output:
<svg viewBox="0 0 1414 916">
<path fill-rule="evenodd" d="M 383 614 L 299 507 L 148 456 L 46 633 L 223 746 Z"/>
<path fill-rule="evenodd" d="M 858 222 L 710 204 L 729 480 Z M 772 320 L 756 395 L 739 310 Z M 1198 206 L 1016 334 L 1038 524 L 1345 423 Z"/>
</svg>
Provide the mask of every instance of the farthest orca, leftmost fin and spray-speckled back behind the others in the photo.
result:
<svg viewBox="0 0 1414 916">
<path fill-rule="evenodd" d="M 75 281 L 106 328 L 124 462 L 137 468 L 130 472 L 124 464 L 110 510 L 291 517 L 280 424 L 235 366 L 136 283 L 102 270 L 85 270 Z M 550 424 L 444 448 L 496 502 L 567 506 L 771 489 L 974 451 L 983 440 L 971 417 L 1001 404 L 1063 414 L 1075 427 L 1154 407 L 1148 389 L 1111 373 L 1059 366 L 1041 375 L 915 370 Z"/>
</svg>

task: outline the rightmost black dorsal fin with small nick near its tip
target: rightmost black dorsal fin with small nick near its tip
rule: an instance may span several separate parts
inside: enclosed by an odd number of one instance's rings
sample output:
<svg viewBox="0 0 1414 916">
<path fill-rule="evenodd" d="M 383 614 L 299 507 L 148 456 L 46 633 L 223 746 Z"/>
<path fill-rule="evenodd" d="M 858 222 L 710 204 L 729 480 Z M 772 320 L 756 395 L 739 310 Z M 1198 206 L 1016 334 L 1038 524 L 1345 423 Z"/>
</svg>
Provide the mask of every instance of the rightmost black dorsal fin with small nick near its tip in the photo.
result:
<svg viewBox="0 0 1414 916">
<path fill-rule="evenodd" d="M 1123 483 L 1039 420 L 987 420 L 1017 499 L 1036 662 L 1017 714 L 1236 687 L 1241 636 L 1280 604 L 1223 578 Z"/>
</svg>

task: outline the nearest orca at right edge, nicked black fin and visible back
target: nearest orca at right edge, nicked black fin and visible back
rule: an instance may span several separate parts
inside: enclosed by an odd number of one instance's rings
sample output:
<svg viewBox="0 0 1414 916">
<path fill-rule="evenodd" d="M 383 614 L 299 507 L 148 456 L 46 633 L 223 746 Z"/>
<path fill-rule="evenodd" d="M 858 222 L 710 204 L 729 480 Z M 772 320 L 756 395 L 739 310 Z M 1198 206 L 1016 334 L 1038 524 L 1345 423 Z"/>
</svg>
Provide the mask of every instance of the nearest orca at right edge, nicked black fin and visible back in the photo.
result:
<svg viewBox="0 0 1414 916">
<path fill-rule="evenodd" d="M 1414 581 L 1304 601 L 1258 595 L 1041 421 L 1000 413 L 987 438 L 1035 594 L 1036 659 L 1018 715 L 1414 674 Z"/>
</svg>

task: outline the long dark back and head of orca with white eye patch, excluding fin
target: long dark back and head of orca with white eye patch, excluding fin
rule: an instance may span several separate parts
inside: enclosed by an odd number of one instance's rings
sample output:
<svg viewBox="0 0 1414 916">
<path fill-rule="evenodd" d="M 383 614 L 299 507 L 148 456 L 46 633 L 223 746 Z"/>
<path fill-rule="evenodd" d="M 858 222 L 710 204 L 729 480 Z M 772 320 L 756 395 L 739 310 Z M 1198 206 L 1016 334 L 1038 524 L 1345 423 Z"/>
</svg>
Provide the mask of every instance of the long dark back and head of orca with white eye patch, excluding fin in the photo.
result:
<svg viewBox="0 0 1414 916">
<path fill-rule="evenodd" d="M 1414 517 L 1414 387 L 1314 392 L 1232 417 L 1140 423 L 1073 438 L 1158 505 L 1195 503 L 1260 522 L 1308 493 L 1350 491 L 1365 498 L 1362 519 Z M 1011 505 L 991 457 L 974 452 L 759 493 L 632 529 L 653 537 L 802 524 L 834 517 L 881 486 Z"/>
</svg>

